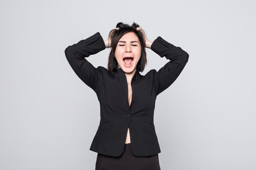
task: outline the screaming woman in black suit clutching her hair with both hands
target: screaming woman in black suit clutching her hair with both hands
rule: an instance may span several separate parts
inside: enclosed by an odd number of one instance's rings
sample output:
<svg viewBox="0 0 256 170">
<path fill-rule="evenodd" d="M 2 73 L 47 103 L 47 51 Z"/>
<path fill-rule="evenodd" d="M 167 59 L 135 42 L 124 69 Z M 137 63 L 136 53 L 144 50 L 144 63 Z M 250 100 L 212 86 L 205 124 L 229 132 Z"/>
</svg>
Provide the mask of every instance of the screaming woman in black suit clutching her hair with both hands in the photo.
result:
<svg viewBox="0 0 256 170">
<path fill-rule="evenodd" d="M 110 47 L 108 69 L 95 68 L 85 59 Z M 147 62 L 145 48 L 169 61 L 159 71 L 140 75 Z M 119 22 L 107 40 L 97 32 L 68 46 L 65 55 L 99 99 L 101 119 L 90 147 L 98 153 L 96 170 L 160 170 L 155 100 L 180 75 L 189 54 L 161 37 L 151 42 L 134 22 Z"/>
</svg>

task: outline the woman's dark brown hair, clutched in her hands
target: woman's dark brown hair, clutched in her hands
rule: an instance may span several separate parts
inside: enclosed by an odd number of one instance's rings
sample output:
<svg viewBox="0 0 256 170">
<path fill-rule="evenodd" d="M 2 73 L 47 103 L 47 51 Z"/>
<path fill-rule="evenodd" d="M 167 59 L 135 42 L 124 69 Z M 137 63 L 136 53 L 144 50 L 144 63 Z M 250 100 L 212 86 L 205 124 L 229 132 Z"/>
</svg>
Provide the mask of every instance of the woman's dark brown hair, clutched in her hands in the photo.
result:
<svg viewBox="0 0 256 170">
<path fill-rule="evenodd" d="M 132 25 L 124 24 L 122 22 L 119 22 L 116 26 L 116 28 L 119 29 L 112 29 L 109 33 L 109 37 L 111 39 L 111 51 L 108 56 L 108 72 L 111 74 L 115 67 L 118 65 L 117 60 L 115 59 L 115 51 L 117 48 L 117 43 L 120 40 L 120 38 L 129 32 L 135 33 L 137 37 L 139 38 L 139 42 L 141 45 L 141 57 L 139 59 L 139 62 L 137 63 L 136 70 L 142 72 L 144 71 L 144 68 L 147 64 L 147 57 L 146 57 L 146 40 L 144 38 L 144 31 L 141 29 L 140 31 L 136 30 L 139 27 L 138 24 L 135 22 L 132 23 Z"/>
</svg>

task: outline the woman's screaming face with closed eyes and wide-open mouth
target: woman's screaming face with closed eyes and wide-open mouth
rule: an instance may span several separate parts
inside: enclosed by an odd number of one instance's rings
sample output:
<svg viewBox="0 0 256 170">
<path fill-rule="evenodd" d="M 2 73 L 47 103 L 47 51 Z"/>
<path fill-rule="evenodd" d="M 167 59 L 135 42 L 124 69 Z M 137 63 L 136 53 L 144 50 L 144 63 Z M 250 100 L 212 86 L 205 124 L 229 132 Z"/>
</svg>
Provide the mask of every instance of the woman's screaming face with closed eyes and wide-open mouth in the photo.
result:
<svg viewBox="0 0 256 170">
<path fill-rule="evenodd" d="M 141 56 L 139 38 L 133 32 L 124 34 L 117 43 L 115 57 L 118 67 L 125 73 L 136 71 L 137 63 Z"/>
</svg>

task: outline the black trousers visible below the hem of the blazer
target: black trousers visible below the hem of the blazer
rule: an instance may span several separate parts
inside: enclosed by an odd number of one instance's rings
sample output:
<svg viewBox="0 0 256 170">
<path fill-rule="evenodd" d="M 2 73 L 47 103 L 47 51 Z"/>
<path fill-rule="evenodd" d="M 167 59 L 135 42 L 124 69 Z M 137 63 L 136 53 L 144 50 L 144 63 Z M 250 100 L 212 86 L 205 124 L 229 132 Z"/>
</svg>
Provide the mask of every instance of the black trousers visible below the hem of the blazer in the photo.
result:
<svg viewBox="0 0 256 170">
<path fill-rule="evenodd" d="M 95 170 L 160 170 L 157 155 L 136 157 L 132 154 L 131 144 L 125 144 L 119 157 L 98 153 Z"/>
</svg>

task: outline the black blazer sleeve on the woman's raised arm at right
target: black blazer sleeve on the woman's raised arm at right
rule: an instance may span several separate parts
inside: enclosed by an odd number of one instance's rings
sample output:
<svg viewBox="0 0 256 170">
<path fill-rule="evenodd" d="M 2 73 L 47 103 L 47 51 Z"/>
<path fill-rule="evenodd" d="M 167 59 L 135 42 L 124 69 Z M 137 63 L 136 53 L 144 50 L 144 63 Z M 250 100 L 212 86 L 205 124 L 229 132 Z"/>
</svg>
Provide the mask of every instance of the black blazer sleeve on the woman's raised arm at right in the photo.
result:
<svg viewBox="0 0 256 170">
<path fill-rule="evenodd" d="M 166 59 L 170 60 L 159 71 L 154 72 L 155 91 L 156 95 L 159 95 L 171 86 L 180 75 L 189 60 L 189 54 L 180 47 L 168 43 L 161 37 L 157 37 L 153 42 L 151 50 L 160 57 L 166 57 Z"/>
</svg>

